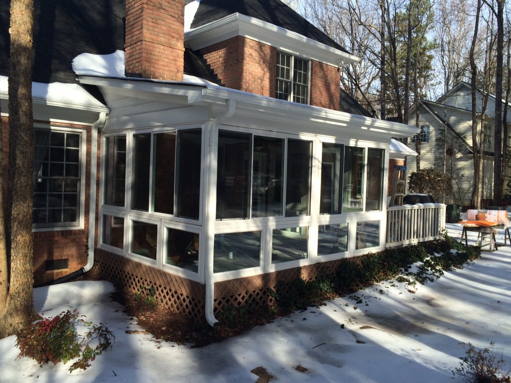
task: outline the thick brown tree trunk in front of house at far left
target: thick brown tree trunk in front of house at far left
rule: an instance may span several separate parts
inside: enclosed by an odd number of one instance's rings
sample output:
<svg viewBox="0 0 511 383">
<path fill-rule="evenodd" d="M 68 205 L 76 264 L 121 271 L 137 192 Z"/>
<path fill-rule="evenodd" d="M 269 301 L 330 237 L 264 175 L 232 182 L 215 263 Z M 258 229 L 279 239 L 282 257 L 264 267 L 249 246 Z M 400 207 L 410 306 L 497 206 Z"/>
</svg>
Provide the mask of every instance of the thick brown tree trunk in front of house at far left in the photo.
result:
<svg viewBox="0 0 511 383">
<path fill-rule="evenodd" d="M 0 338 L 36 317 L 32 245 L 34 128 L 32 116 L 33 0 L 11 0 L 9 178 L 6 243 L 9 287 L 0 302 Z"/>
</svg>

